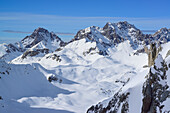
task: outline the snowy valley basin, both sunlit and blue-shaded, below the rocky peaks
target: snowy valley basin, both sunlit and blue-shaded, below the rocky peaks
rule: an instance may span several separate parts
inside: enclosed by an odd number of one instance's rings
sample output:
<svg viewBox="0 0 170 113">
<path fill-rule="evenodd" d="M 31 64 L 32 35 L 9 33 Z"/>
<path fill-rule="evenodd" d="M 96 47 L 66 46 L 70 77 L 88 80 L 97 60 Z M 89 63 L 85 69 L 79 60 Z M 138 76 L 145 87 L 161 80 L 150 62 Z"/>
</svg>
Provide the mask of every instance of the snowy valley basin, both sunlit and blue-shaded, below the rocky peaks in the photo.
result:
<svg viewBox="0 0 170 113">
<path fill-rule="evenodd" d="M 0 91 L 3 93 L 0 94 L 4 98 L 2 104 L 8 105 L 13 113 L 27 113 L 34 109 L 84 113 L 91 105 L 112 97 L 123 85 L 117 80 L 126 82 L 130 78 L 124 90 L 131 88 L 134 95 L 141 91 L 141 84 L 148 73 L 148 68 L 143 68 L 147 64 L 146 54 L 132 55 L 134 50 L 130 42 L 125 41 L 117 47 L 109 48 L 108 56 L 97 54 L 97 50 L 83 55 L 83 52 L 95 46 L 95 42 L 81 39 L 35 62 L 31 57 L 22 62 L 16 58 L 11 62 L 13 64 L 9 64 L 12 67 L 9 72 L 11 74 L 2 76 L 1 79 L 3 84 L 0 85 Z M 54 54 L 60 56 L 61 62 L 47 58 Z M 50 75 L 62 79 L 62 82 L 49 83 L 47 79 Z M 15 85 L 12 85 L 14 82 Z M 134 88 L 135 86 L 138 87 Z M 6 90 L 7 87 L 10 89 Z M 5 96 L 6 93 L 8 95 Z M 141 93 L 138 94 L 141 98 Z M 130 102 L 133 102 L 131 99 L 134 97 L 130 96 Z M 140 105 L 139 101 L 138 108 Z M 1 110 L 5 113 L 9 108 Z"/>
</svg>

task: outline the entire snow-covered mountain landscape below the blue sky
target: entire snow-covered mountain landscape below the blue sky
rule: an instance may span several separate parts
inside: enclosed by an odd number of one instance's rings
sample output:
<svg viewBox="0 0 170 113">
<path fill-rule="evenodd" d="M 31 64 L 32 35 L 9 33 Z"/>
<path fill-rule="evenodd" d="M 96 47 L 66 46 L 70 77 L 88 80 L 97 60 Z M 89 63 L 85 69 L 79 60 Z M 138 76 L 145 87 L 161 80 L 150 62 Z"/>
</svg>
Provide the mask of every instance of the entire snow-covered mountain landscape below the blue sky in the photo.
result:
<svg viewBox="0 0 170 113">
<path fill-rule="evenodd" d="M 161 44 L 161 49 L 150 43 Z M 38 28 L 12 45 L 21 48 L 18 55 L 0 59 L 2 113 L 170 110 L 167 30 L 143 34 L 128 22 L 108 22 L 78 31 L 66 44 Z M 3 53 L 8 45 L 0 47 Z M 151 67 L 148 59 L 155 61 Z"/>
</svg>

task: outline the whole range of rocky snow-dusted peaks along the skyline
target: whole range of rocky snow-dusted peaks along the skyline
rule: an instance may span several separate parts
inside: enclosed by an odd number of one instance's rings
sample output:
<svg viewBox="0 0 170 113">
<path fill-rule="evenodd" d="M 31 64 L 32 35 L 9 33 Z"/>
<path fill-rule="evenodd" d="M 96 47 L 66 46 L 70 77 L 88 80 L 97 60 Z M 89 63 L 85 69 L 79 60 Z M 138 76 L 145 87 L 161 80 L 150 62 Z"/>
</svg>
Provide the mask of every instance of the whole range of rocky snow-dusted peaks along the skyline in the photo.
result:
<svg viewBox="0 0 170 113">
<path fill-rule="evenodd" d="M 97 43 L 97 48 L 100 51 L 99 53 L 106 54 L 106 48 L 117 45 L 125 40 L 129 40 L 134 49 L 137 49 L 139 45 L 148 45 L 150 42 L 166 43 L 170 41 L 170 29 L 161 28 L 151 35 L 143 34 L 142 31 L 126 21 L 118 23 L 108 22 L 103 28 L 91 26 L 78 31 L 69 43 L 83 38 L 86 38 L 88 41 L 95 41 Z M 1 53 L 0 56 L 3 57 L 6 54 L 14 52 L 22 53 L 31 48 L 54 51 L 67 44 L 68 43 L 62 41 L 53 32 L 49 32 L 44 28 L 37 28 L 30 36 L 26 36 L 20 42 L 1 45 L 1 48 L 4 48 L 4 53 Z"/>
</svg>

